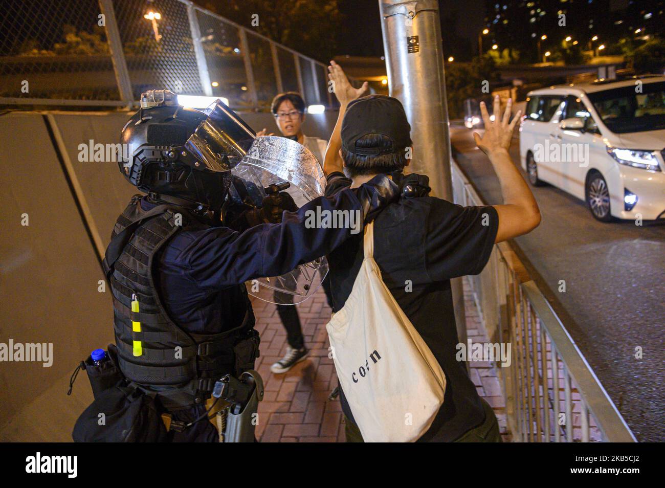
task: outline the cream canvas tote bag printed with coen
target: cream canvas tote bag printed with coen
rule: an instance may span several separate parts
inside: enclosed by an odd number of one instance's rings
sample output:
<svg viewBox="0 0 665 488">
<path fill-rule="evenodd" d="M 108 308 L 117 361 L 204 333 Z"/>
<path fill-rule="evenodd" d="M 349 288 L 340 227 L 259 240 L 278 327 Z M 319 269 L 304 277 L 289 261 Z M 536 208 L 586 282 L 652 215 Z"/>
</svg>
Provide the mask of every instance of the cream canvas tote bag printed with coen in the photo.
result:
<svg viewBox="0 0 665 488">
<path fill-rule="evenodd" d="M 444 402 L 446 376 L 381 279 L 374 223 L 346 303 L 326 325 L 344 396 L 366 442 L 413 442 Z"/>
</svg>

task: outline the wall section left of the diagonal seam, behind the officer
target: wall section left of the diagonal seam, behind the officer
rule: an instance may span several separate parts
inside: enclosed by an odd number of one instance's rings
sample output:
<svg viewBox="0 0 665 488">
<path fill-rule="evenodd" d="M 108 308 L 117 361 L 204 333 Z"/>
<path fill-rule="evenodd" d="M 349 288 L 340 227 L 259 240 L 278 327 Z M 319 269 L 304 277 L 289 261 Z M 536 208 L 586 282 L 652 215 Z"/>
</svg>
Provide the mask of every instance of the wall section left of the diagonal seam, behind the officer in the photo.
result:
<svg viewBox="0 0 665 488">
<path fill-rule="evenodd" d="M 3 116 L 0 140 L 0 342 L 53 344 L 51 367 L 0 362 L 0 440 L 66 441 L 92 401 L 84 374 L 66 396 L 68 376 L 112 340 L 110 295 L 43 116 Z"/>
</svg>

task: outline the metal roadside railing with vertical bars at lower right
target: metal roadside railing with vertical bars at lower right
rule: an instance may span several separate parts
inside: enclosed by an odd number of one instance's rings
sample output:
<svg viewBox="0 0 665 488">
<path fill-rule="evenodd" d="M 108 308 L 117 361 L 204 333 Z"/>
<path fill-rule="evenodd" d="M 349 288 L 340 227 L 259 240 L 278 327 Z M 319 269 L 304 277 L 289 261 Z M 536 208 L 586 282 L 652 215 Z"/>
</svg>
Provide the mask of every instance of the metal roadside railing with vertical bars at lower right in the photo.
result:
<svg viewBox="0 0 665 488">
<path fill-rule="evenodd" d="M 484 205 L 456 162 L 460 205 Z M 507 242 L 469 283 L 489 341 L 511 344 L 499 380 L 513 440 L 634 442 L 634 435 L 559 317 Z"/>
</svg>

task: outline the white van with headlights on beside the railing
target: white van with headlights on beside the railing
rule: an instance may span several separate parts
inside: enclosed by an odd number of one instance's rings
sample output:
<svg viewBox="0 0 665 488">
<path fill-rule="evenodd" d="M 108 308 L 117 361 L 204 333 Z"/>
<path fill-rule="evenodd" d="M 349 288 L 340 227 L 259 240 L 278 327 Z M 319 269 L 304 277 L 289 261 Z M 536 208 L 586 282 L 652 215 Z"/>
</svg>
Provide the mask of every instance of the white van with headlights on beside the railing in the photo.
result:
<svg viewBox="0 0 665 488">
<path fill-rule="evenodd" d="M 665 216 L 665 76 L 534 90 L 519 128 L 522 166 L 591 214 Z"/>
</svg>

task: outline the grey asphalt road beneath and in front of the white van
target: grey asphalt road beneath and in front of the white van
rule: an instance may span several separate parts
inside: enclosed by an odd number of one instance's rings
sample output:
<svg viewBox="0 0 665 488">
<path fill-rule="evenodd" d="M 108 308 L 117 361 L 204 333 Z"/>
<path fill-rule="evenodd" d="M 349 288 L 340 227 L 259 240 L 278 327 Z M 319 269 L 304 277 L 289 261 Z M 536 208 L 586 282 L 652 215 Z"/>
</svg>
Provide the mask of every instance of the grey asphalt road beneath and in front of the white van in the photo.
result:
<svg viewBox="0 0 665 488">
<path fill-rule="evenodd" d="M 471 134 L 452 124 L 454 157 L 487 203 L 501 203 L 496 174 Z M 519 162 L 517 137 L 511 154 Z M 664 441 L 665 225 L 600 223 L 555 187 L 533 192 L 541 225 L 516 241 L 539 286 L 638 440 Z"/>
</svg>

